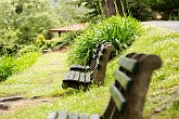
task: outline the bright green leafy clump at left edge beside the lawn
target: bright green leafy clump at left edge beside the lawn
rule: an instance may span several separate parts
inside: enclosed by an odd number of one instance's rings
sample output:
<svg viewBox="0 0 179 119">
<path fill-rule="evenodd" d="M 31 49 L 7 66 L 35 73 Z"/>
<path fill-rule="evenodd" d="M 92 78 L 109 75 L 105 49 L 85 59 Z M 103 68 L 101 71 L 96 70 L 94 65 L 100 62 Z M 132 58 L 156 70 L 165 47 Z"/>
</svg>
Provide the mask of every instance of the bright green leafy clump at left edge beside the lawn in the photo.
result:
<svg viewBox="0 0 179 119">
<path fill-rule="evenodd" d="M 4 55 L 0 57 L 0 82 L 14 72 L 14 57 Z"/>
</svg>

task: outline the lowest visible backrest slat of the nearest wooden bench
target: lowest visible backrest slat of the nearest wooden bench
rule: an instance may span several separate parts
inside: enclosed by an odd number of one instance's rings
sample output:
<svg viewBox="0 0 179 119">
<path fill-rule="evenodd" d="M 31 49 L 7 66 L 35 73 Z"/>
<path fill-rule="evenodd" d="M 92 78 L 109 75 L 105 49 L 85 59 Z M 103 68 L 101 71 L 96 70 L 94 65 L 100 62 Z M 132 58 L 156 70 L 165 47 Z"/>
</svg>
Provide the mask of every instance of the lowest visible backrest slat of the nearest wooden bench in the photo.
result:
<svg viewBox="0 0 179 119">
<path fill-rule="evenodd" d="M 126 103 L 125 97 L 123 96 L 123 94 L 118 91 L 118 89 L 112 84 L 111 89 L 110 89 L 111 95 L 116 104 L 117 109 L 120 111 L 123 108 L 123 105 Z"/>
</svg>

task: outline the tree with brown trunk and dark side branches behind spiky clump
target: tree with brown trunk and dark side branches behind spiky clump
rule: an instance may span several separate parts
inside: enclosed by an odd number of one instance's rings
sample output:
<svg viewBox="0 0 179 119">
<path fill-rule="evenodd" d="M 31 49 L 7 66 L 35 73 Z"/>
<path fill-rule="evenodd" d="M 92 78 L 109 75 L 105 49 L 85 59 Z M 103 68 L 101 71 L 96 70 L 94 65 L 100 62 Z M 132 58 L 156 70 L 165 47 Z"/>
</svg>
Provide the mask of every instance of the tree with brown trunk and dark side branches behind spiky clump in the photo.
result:
<svg viewBox="0 0 179 119">
<path fill-rule="evenodd" d="M 78 0 L 76 3 L 78 3 L 78 5 L 82 4 L 90 10 L 90 18 L 102 13 L 106 17 L 116 14 L 124 16 L 127 12 L 126 0 Z"/>
</svg>

